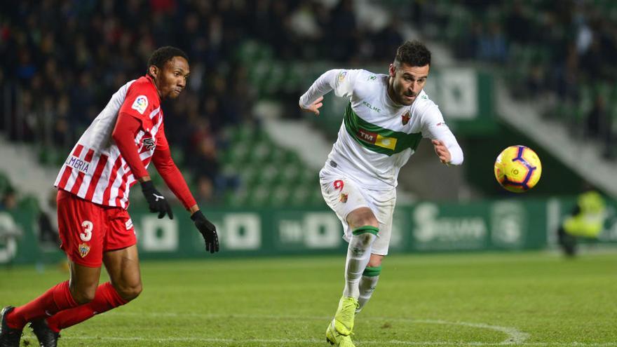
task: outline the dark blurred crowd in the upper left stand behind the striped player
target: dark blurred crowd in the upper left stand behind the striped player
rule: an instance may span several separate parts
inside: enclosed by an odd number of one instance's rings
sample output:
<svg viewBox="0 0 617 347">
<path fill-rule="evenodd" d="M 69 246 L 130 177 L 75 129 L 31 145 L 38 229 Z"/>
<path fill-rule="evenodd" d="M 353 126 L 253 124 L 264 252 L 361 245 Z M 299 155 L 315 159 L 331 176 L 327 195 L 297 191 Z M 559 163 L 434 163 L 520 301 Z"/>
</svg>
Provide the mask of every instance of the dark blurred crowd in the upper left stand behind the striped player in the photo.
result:
<svg viewBox="0 0 617 347">
<path fill-rule="evenodd" d="M 332 1 L 330 1 L 332 3 Z M 165 130 L 201 200 L 236 184 L 220 170 L 224 128 L 256 123 L 250 64 L 238 46 L 256 40 L 278 60 L 391 59 L 398 22 L 360 27 L 351 0 L 43 0 L 0 4 L 0 131 L 11 140 L 69 150 L 151 52 L 189 55 L 187 90 L 163 103 Z M 176 153 L 175 153 L 176 155 Z"/>
</svg>

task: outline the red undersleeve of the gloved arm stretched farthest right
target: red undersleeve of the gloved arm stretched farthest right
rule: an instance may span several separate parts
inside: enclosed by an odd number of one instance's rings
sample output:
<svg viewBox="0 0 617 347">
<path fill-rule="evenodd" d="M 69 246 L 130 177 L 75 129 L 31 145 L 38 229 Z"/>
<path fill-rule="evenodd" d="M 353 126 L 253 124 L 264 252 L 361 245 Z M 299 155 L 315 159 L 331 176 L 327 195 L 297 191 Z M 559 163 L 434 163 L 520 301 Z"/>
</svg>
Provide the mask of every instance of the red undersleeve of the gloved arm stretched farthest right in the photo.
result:
<svg viewBox="0 0 617 347">
<path fill-rule="evenodd" d="M 184 208 L 189 210 L 189 208 L 197 204 L 195 198 L 193 194 L 191 194 L 184 177 L 182 177 L 182 172 L 178 170 L 171 158 L 171 151 L 169 150 L 169 145 L 162 127 L 158 130 L 157 137 L 158 136 L 160 137 L 157 140 L 154 156 L 152 156 L 152 163 L 154 163 L 154 167 L 158 173 L 161 174 L 161 177 L 163 177 L 169 189 L 171 189 L 174 195 L 182 201 Z"/>
</svg>

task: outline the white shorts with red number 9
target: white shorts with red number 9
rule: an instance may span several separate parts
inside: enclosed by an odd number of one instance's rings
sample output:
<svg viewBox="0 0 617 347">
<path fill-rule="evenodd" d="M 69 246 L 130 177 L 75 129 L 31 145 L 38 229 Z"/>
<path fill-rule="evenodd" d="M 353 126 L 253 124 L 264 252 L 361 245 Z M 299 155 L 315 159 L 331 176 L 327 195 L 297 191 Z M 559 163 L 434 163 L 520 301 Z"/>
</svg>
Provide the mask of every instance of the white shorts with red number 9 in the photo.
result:
<svg viewBox="0 0 617 347">
<path fill-rule="evenodd" d="M 347 224 L 347 215 L 360 207 L 369 207 L 379 222 L 377 240 L 372 245 L 371 253 L 388 254 L 392 234 L 392 216 L 396 203 L 396 189 L 375 191 L 360 188 L 345 175 L 324 172 L 319 175 L 321 193 L 328 206 L 337 214 L 343 224 L 343 238 L 349 242 L 352 230 Z"/>
</svg>

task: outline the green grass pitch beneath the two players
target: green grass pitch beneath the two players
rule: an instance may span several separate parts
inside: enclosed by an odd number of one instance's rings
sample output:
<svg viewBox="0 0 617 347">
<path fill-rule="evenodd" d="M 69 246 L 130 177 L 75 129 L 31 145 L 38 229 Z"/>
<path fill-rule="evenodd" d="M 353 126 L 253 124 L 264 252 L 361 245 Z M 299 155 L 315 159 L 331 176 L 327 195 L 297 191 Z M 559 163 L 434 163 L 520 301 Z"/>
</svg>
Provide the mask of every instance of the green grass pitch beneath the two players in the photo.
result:
<svg viewBox="0 0 617 347">
<path fill-rule="evenodd" d="M 144 261 L 142 295 L 60 346 L 330 346 L 343 268 L 343 254 Z M 66 278 L 0 268 L 0 305 Z M 355 322 L 357 346 L 617 346 L 617 254 L 393 255 Z"/>
</svg>

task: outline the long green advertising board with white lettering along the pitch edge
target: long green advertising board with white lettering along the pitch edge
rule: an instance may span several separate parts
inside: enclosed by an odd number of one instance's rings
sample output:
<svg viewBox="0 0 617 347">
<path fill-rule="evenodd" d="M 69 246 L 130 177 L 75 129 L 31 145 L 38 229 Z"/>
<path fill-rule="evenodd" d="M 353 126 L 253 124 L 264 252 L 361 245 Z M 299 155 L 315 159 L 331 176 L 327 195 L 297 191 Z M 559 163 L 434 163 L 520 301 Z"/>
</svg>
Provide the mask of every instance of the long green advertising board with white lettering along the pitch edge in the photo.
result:
<svg viewBox="0 0 617 347">
<path fill-rule="evenodd" d="M 555 243 L 555 231 L 574 199 L 492 200 L 473 203 L 423 202 L 397 207 L 391 252 L 538 250 Z M 611 201 L 611 209 L 616 204 Z M 62 259 L 54 245 L 39 240 L 39 212 L 0 212 L 0 264 Z M 158 219 L 131 205 L 142 259 L 208 258 L 279 254 L 344 254 L 347 244 L 334 212 L 306 209 L 210 209 L 221 252 L 212 256 L 187 213 Z M 617 243 L 611 218 L 599 243 Z"/>
</svg>

